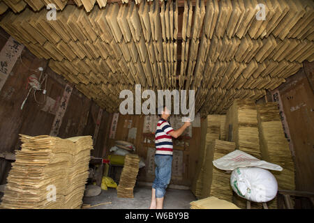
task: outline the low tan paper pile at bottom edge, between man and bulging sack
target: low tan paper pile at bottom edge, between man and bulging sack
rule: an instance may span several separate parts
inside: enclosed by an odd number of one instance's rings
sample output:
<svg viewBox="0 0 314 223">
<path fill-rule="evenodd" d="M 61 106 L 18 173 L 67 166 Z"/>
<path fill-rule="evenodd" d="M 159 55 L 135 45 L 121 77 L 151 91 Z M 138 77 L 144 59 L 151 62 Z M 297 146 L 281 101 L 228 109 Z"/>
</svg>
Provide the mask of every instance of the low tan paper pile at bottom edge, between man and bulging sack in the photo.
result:
<svg viewBox="0 0 314 223">
<path fill-rule="evenodd" d="M 234 203 L 218 199 L 216 197 L 207 197 L 198 201 L 190 202 L 190 209 L 240 209 Z"/>
</svg>

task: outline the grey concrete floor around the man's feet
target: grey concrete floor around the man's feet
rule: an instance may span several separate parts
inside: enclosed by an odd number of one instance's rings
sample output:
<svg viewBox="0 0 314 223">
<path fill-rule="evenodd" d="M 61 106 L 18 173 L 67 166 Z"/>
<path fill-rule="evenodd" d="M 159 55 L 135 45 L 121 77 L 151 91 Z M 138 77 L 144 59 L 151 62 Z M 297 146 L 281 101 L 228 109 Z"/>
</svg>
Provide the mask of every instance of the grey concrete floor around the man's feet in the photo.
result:
<svg viewBox="0 0 314 223">
<path fill-rule="evenodd" d="M 196 198 L 190 190 L 167 189 L 164 200 L 164 209 L 189 209 L 190 201 Z M 83 203 L 91 204 L 105 203 L 111 201 L 110 204 L 96 206 L 91 209 L 147 209 L 151 203 L 151 187 L 136 186 L 134 188 L 134 198 L 119 198 L 117 190 L 108 188 L 96 197 L 84 197 Z"/>
</svg>

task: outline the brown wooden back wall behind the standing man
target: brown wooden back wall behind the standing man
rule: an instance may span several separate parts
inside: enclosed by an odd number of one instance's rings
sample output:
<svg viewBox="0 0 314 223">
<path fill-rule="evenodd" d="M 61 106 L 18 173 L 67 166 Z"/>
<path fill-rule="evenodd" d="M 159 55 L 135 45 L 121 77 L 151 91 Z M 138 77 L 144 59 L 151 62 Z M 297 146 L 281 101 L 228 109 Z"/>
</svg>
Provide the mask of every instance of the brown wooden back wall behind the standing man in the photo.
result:
<svg viewBox="0 0 314 223">
<path fill-rule="evenodd" d="M 132 125 L 130 128 L 137 128 L 136 139 L 128 139 L 128 128 L 124 128 L 125 121 L 132 120 Z M 144 135 L 143 135 L 143 125 L 144 125 L 144 115 L 119 115 L 119 120 L 117 123 L 117 132 L 114 139 L 109 139 L 107 144 L 107 154 L 109 149 L 114 146 L 114 141 L 124 140 L 133 143 L 136 148 L 136 153 L 143 157 L 145 162 L 147 161 L 147 149 L 149 147 L 155 148 L 153 144 L 144 144 Z M 172 176 L 170 184 L 174 185 L 186 185 L 190 186 L 190 183 L 193 180 L 197 159 L 198 159 L 198 150 L 200 148 L 200 130 L 201 128 L 192 128 L 192 138 L 188 139 L 189 146 L 184 150 L 184 174 L 182 178 L 177 178 Z M 175 150 L 176 148 L 174 148 Z M 147 163 L 146 163 L 147 164 Z M 140 169 L 138 180 L 144 182 L 153 182 L 154 176 L 147 175 L 146 167 Z"/>
</svg>

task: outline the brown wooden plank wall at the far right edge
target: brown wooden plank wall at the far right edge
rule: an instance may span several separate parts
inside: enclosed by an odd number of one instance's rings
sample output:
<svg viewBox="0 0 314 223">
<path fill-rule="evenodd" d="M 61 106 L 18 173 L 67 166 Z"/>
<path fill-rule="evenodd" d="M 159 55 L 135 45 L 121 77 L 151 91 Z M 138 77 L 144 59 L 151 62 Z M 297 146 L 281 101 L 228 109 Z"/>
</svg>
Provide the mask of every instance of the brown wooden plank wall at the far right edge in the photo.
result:
<svg viewBox="0 0 314 223">
<path fill-rule="evenodd" d="M 304 63 L 304 68 L 278 88 L 292 141 L 296 190 L 308 192 L 314 192 L 313 72 L 314 63 Z"/>
</svg>

